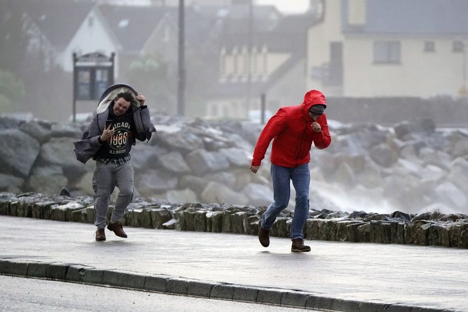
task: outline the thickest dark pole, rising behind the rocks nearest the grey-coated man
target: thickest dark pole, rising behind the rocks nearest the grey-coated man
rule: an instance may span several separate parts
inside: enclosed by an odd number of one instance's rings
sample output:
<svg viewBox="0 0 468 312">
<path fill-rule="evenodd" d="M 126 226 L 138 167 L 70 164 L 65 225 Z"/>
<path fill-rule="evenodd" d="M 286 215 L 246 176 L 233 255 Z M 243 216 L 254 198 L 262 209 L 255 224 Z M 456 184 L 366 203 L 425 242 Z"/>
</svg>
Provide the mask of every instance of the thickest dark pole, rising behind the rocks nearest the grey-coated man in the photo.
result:
<svg viewBox="0 0 468 312">
<path fill-rule="evenodd" d="M 185 115 L 185 5 L 179 0 L 179 45 L 177 77 L 177 115 Z"/>
</svg>

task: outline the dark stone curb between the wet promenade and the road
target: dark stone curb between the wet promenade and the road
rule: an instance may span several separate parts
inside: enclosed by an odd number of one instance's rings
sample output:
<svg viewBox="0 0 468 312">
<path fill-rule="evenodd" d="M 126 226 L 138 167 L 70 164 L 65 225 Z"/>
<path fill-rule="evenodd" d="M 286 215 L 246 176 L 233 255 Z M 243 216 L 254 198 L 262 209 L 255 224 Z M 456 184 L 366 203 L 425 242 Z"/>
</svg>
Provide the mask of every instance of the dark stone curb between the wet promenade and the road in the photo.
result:
<svg viewBox="0 0 468 312">
<path fill-rule="evenodd" d="M 101 270 L 64 262 L 2 258 L 0 274 L 336 312 L 456 312 L 402 305 L 397 302 L 352 301 L 326 297 L 316 292 L 234 285 L 124 270 Z"/>
</svg>

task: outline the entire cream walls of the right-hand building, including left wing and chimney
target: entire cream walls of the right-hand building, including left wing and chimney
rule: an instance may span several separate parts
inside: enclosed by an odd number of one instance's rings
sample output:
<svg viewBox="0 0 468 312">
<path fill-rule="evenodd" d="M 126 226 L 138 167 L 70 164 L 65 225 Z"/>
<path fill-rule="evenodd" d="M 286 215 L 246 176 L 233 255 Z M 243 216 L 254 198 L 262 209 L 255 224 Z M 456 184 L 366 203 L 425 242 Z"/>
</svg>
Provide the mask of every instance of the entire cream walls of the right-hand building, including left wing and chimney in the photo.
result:
<svg viewBox="0 0 468 312">
<path fill-rule="evenodd" d="M 454 53 L 453 41 L 468 37 L 442 35 L 385 35 L 356 33 L 343 35 L 341 2 L 325 0 L 323 22 L 309 28 L 307 34 L 306 87 L 327 96 L 344 97 L 457 97 L 463 86 L 464 53 Z M 358 26 L 365 22 L 366 0 L 350 1 L 346 20 Z M 374 64 L 375 40 L 400 41 L 400 64 Z M 435 51 L 425 52 L 425 41 L 434 41 Z M 343 86 L 330 86 L 314 76 L 330 62 L 331 42 L 343 42 Z M 466 60 L 468 62 L 468 59 Z"/>
</svg>

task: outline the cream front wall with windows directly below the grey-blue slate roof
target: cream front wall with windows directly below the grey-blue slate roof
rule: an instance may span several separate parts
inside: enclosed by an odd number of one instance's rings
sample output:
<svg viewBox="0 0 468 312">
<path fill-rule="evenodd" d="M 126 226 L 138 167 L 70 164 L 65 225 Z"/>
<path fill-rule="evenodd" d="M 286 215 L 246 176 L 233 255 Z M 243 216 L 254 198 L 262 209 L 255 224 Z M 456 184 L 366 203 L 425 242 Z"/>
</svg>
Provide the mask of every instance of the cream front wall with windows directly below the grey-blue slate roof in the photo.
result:
<svg viewBox="0 0 468 312">
<path fill-rule="evenodd" d="M 400 64 L 375 64 L 375 40 L 400 41 Z M 435 51 L 425 52 L 425 41 Z M 344 90 L 347 97 L 456 97 L 463 84 L 463 53 L 452 52 L 453 39 L 374 36 L 345 39 Z"/>
</svg>

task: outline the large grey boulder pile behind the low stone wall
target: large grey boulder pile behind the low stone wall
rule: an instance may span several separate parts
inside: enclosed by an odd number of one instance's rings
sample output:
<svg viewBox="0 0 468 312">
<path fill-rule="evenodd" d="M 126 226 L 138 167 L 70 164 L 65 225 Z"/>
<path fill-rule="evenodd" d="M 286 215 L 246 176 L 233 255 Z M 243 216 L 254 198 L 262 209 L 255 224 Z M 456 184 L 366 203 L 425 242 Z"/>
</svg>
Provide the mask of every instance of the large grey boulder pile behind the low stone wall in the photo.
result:
<svg viewBox="0 0 468 312">
<path fill-rule="evenodd" d="M 136 196 L 270 204 L 268 155 L 256 175 L 248 169 L 261 125 L 159 115 L 153 122 L 157 132 L 131 153 Z M 0 117 L 0 191 L 57 194 L 67 186 L 92 195 L 94 162 L 78 162 L 72 144 L 86 126 Z M 311 151 L 311 208 L 468 213 L 467 129 L 437 129 L 431 119 L 329 127 L 331 146 Z"/>
</svg>

